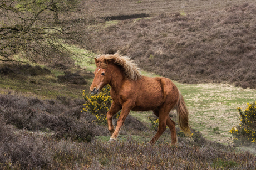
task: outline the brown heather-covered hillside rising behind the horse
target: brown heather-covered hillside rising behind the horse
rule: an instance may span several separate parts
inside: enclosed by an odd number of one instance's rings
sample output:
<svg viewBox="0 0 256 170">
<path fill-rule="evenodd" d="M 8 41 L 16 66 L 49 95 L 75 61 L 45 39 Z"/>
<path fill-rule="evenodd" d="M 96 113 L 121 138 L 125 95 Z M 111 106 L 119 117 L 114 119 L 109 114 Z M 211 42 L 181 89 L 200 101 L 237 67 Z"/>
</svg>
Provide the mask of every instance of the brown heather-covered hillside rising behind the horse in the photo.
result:
<svg viewBox="0 0 256 170">
<path fill-rule="evenodd" d="M 142 69 L 181 83 L 255 88 L 255 3 L 200 2 L 104 1 L 106 20 L 117 22 L 99 25 L 92 48 L 121 50 Z"/>
</svg>

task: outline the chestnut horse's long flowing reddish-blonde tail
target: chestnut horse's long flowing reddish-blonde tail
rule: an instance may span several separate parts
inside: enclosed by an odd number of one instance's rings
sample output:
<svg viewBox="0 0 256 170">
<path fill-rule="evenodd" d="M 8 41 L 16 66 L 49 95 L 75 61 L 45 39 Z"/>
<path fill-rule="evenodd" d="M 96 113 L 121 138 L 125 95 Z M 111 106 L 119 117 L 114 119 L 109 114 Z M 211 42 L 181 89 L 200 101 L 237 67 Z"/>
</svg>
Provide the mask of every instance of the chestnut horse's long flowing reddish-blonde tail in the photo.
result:
<svg viewBox="0 0 256 170">
<path fill-rule="evenodd" d="M 192 138 L 190 125 L 189 125 L 189 111 L 186 109 L 186 104 L 179 91 L 179 100 L 176 104 L 177 117 L 178 117 L 178 125 L 185 134 L 185 136 Z"/>
</svg>

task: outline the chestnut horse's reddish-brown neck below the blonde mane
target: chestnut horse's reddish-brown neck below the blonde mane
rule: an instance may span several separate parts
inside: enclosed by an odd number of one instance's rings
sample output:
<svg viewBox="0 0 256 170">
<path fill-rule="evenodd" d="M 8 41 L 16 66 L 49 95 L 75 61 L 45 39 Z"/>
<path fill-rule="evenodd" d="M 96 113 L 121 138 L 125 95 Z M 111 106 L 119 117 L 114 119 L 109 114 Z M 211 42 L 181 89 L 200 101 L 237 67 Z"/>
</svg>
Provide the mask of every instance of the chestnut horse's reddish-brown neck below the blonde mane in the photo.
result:
<svg viewBox="0 0 256 170">
<path fill-rule="evenodd" d="M 111 71 L 111 80 L 109 85 L 115 91 L 115 93 L 118 93 L 122 80 L 124 79 L 124 75 L 122 74 L 121 69 L 114 64 L 109 65 L 109 71 Z"/>
</svg>

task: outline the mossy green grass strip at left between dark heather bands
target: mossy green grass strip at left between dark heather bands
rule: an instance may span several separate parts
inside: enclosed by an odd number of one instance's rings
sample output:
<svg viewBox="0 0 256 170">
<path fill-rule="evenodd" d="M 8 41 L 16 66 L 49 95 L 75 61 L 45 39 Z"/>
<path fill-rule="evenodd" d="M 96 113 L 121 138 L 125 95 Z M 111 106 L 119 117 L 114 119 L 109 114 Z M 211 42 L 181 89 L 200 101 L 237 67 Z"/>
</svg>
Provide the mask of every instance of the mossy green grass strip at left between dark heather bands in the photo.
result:
<svg viewBox="0 0 256 170">
<path fill-rule="evenodd" d="M 19 93 L 25 96 L 39 97 L 40 99 L 55 99 L 56 96 L 82 98 L 82 89 L 88 89 L 87 85 L 82 87 L 81 85 L 58 84 L 53 76 L 36 76 L 27 80 L 0 76 L 0 81 L 2 93 Z"/>
</svg>

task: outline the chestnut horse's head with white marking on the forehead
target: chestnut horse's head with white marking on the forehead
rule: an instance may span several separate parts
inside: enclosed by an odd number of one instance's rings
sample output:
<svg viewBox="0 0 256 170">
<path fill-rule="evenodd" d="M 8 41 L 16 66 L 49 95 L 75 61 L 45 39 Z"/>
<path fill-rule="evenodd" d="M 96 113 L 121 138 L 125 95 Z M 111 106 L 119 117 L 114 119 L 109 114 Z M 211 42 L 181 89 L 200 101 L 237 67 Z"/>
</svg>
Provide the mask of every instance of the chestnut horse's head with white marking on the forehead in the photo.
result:
<svg viewBox="0 0 256 170">
<path fill-rule="evenodd" d="M 99 61 L 94 58 L 97 68 L 94 71 L 94 79 L 90 87 L 92 94 L 99 94 L 100 90 L 107 84 L 110 83 L 111 75 L 108 73 L 107 60 Z"/>
</svg>

